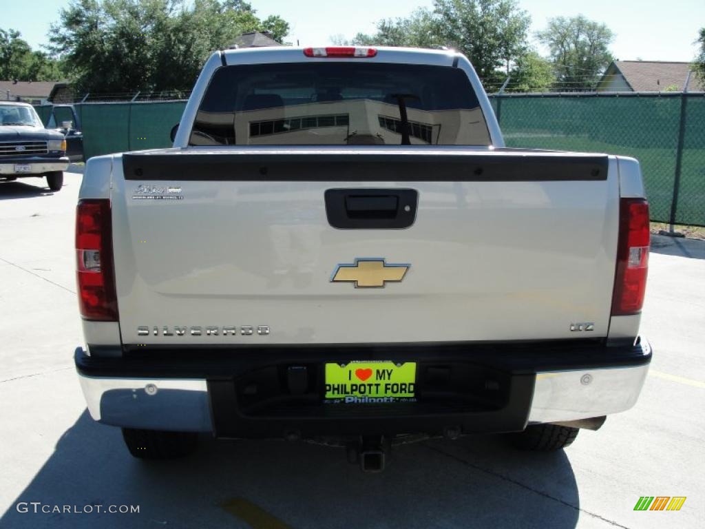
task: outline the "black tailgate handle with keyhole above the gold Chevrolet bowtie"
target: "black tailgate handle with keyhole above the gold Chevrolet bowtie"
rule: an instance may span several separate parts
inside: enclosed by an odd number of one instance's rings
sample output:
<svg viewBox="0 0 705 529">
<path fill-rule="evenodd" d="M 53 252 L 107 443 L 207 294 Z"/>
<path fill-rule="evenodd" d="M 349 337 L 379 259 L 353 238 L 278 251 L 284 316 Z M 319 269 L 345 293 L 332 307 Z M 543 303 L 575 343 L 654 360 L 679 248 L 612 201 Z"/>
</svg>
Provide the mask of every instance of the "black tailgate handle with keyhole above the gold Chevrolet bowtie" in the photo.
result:
<svg viewBox="0 0 705 529">
<path fill-rule="evenodd" d="M 416 219 L 415 189 L 329 189 L 326 216 L 338 229 L 404 229 Z"/>
</svg>

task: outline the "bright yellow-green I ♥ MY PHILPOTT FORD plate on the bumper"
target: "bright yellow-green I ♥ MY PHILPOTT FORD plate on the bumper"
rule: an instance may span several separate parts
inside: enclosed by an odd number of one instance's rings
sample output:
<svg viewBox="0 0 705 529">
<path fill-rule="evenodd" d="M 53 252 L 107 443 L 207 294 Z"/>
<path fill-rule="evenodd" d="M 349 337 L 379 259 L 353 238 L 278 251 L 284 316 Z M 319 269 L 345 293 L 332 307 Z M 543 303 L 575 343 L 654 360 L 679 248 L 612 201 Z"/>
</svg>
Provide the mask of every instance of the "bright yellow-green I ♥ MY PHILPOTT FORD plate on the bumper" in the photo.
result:
<svg viewBox="0 0 705 529">
<path fill-rule="evenodd" d="M 326 364 L 326 401 L 346 404 L 414 402 L 415 362 Z"/>
</svg>

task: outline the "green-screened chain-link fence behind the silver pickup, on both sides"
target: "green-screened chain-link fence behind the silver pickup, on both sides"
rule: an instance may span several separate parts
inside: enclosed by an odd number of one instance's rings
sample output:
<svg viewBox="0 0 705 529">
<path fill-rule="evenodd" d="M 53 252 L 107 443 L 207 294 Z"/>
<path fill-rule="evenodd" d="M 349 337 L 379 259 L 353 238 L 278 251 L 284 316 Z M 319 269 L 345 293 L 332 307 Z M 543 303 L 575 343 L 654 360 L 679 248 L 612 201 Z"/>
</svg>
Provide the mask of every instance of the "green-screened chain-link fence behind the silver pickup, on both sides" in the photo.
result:
<svg viewBox="0 0 705 529">
<path fill-rule="evenodd" d="M 639 159 L 651 219 L 705 226 L 705 94 L 491 97 L 509 147 Z M 184 101 L 76 104 L 85 157 L 171 145 Z M 48 119 L 50 107 L 39 107 Z"/>
</svg>

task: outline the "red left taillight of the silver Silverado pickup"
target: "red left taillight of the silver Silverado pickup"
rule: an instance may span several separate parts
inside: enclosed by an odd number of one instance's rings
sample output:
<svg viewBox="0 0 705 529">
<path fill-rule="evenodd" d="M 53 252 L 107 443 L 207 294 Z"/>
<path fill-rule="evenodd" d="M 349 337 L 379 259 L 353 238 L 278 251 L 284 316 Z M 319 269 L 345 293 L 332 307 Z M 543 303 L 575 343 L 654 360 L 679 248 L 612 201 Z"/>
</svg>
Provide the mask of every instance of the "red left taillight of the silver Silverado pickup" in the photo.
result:
<svg viewBox="0 0 705 529">
<path fill-rule="evenodd" d="M 86 320 L 118 321 L 109 200 L 78 202 L 76 279 L 81 316 Z"/>
</svg>

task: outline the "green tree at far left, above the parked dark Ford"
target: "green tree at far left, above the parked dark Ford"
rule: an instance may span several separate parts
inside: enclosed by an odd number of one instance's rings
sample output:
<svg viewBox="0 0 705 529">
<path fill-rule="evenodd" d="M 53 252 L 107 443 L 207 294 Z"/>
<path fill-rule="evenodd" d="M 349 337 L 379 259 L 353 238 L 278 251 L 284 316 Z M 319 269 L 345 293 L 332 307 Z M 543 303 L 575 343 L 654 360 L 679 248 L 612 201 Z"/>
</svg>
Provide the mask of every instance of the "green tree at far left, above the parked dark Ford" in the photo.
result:
<svg viewBox="0 0 705 529">
<path fill-rule="evenodd" d="M 43 51 L 32 51 L 20 32 L 0 29 L 0 79 L 49 81 L 61 78 L 59 63 Z"/>
</svg>

